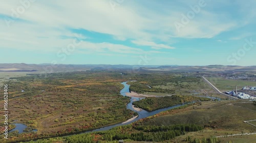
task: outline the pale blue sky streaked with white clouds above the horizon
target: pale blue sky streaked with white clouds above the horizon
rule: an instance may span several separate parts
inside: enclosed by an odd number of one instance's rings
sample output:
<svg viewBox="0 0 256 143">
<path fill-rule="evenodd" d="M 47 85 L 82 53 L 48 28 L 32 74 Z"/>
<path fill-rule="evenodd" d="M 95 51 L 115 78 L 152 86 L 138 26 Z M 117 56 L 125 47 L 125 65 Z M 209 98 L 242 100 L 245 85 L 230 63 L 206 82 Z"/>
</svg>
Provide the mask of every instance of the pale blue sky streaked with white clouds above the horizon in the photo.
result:
<svg viewBox="0 0 256 143">
<path fill-rule="evenodd" d="M 256 65 L 255 5 L 3 1 L 0 63 Z"/>
</svg>

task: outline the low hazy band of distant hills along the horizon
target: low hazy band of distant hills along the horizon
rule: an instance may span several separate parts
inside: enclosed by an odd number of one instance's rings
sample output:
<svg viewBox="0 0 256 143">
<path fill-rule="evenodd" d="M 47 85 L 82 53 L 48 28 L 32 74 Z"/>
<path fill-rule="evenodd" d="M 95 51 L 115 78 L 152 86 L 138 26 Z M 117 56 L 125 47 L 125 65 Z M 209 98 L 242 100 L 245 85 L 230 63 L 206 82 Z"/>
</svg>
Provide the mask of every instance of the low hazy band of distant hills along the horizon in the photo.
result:
<svg viewBox="0 0 256 143">
<path fill-rule="evenodd" d="M 179 65 L 72 65 L 72 64 L 0 64 L 0 71 L 70 72 L 88 70 L 155 70 L 155 71 L 256 71 L 256 66 L 179 66 Z"/>
</svg>

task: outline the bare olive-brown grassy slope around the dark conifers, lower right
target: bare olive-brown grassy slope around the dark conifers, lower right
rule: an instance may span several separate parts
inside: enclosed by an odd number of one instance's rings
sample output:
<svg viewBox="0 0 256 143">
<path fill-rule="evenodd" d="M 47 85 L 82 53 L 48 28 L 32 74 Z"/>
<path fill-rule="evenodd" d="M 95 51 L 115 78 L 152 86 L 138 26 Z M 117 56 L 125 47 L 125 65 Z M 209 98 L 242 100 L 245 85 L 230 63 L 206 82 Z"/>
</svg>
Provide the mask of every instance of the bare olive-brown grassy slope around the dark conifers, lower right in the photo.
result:
<svg viewBox="0 0 256 143">
<path fill-rule="evenodd" d="M 242 102 L 242 103 L 241 103 Z M 153 119 L 145 120 L 142 124 L 165 126 L 170 124 L 200 124 L 205 129 L 198 132 L 189 132 L 184 136 L 179 136 L 173 141 L 182 141 L 187 136 L 202 138 L 205 136 L 219 136 L 239 133 L 256 132 L 256 127 L 243 123 L 243 121 L 256 119 L 256 107 L 251 106 L 251 102 L 244 101 L 218 101 L 218 102 L 202 102 L 201 105 L 194 105 L 185 109 L 167 113 Z M 250 109 L 236 106 L 239 103 Z M 255 135 L 244 135 L 234 137 L 222 137 L 221 142 L 231 140 L 232 142 L 252 141 Z M 241 140 L 241 141 L 239 141 Z M 252 141 L 253 142 L 253 141 Z M 254 140 L 255 142 L 255 140 Z"/>
</svg>

